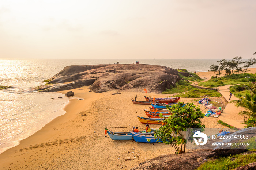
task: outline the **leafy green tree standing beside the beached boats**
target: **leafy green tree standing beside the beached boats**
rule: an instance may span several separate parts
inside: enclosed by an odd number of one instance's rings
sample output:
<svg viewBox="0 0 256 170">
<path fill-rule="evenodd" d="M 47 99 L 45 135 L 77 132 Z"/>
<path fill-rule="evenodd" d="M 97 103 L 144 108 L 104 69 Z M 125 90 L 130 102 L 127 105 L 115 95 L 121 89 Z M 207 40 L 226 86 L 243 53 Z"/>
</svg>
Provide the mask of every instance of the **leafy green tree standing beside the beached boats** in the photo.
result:
<svg viewBox="0 0 256 170">
<path fill-rule="evenodd" d="M 172 107 L 166 106 L 172 115 L 164 119 L 166 125 L 155 132 L 155 139 L 161 138 L 165 144 L 170 144 L 175 148 L 176 154 L 179 154 L 180 151 L 185 152 L 186 140 L 184 132 L 186 128 L 205 128 L 200 120 L 204 117 L 200 107 L 196 107 L 193 103 L 187 103 L 182 107 L 183 104 L 183 102 L 178 102 Z"/>
</svg>

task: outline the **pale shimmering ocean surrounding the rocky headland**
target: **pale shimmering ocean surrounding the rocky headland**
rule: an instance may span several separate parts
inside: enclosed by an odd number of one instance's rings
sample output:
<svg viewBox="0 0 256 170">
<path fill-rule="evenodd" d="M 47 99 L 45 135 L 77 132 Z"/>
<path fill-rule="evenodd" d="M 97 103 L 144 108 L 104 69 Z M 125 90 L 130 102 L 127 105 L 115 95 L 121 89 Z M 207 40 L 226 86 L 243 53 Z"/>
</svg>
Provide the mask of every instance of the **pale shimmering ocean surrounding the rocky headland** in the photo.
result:
<svg viewBox="0 0 256 170">
<path fill-rule="evenodd" d="M 134 59 L 118 60 L 119 64 L 134 63 Z M 189 72 L 208 71 L 217 59 L 138 59 L 140 64 L 162 65 L 187 69 Z M 114 64 L 114 59 L 0 59 L 0 153 L 19 144 L 54 118 L 65 114 L 68 99 L 61 93 L 38 93 L 35 87 L 54 76 L 65 66 Z M 255 66 L 252 66 L 255 67 Z M 62 98 L 58 98 L 62 97 Z M 54 99 L 52 99 L 54 98 Z"/>
</svg>

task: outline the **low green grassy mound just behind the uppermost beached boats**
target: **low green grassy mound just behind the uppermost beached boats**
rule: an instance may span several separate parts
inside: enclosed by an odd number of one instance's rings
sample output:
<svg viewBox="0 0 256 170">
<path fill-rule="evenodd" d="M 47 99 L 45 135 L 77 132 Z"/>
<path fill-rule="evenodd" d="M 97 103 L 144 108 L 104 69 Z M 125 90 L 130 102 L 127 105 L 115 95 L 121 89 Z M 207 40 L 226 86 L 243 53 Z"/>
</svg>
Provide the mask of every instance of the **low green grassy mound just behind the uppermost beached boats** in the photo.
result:
<svg viewBox="0 0 256 170">
<path fill-rule="evenodd" d="M 200 96 L 209 95 L 208 97 L 220 97 L 221 94 L 214 90 L 205 90 L 193 88 L 192 90 L 175 95 L 174 97 L 200 98 Z"/>
</svg>

